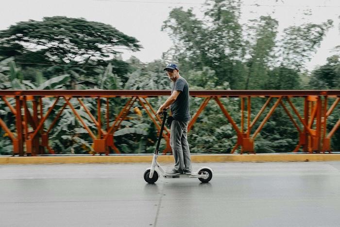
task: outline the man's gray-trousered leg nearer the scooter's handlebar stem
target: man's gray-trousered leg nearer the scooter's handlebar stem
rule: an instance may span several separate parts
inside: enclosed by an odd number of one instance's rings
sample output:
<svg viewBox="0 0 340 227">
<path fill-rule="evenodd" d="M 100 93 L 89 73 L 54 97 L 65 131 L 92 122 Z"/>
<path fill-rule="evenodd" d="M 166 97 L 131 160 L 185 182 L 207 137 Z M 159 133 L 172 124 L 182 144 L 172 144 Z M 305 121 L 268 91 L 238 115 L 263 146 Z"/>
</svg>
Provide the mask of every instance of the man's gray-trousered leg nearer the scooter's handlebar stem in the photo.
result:
<svg viewBox="0 0 340 227">
<path fill-rule="evenodd" d="M 183 127 L 181 122 L 173 120 L 170 127 L 170 146 L 173 157 L 175 158 L 175 170 L 182 173 L 184 170 L 183 150 L 181 137 L 183 135 Z"/>
</svg>

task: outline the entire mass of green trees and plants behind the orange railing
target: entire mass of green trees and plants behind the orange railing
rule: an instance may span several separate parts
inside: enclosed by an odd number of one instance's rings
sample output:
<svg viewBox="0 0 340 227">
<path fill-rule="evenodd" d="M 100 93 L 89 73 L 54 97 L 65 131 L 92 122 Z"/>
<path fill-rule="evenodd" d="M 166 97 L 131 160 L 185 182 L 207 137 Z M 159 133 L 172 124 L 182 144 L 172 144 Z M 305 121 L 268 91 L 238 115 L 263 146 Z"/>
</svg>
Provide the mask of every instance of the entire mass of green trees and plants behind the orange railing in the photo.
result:
<svg viewBox="0 0 340 227">
<path fill-rule="evenodd" d="M 83 18 L 44 17 L 42 21 L 22 21 L 0 31 L 0 89 L 170 89 L 164 73 L 168 62 L 180 66 L 190 89 L 340 89 L 340 58 L 335 54 L 327 63 L 303 72 L 305 63 L 316 52 L 332 20 L 320 24 L 304 23 L 284 29 L 278 38 L 278 21 L 260 16 L 240 24 L 241 0 L 207 0 L 204 18 L 193 9 L 173 8 L 164 21 L 174 46 L 162 59 L 143 63 L 136 57 L 123 61 L 119 48 L 138 51 L 134 37 L 114 27 Z M 339 47 L 336 47 L 339 49 Z M 149 98 L 157 108 L 166 97 Z M 15 99 L 8 98 L 11 105 Z M 97 116 L 97 100 L 83 98 L 84 105 Z M 109 125 L 114 123 L 127 98 L 101 98 L 102 126 L 106 125 L 106 101 Z M 54 98 L 43 98 L 43 113 Z M 75 99 L 70 100 L 85 124 L 97 136 L 97 126 Z M 190 99 L 193 116 L 202 98 Z M 240 99 L 222 98 L 222 104 L 240 125 Z M 302 113 L 303 100 L 293 100 Z M 60 99 L 46 121 L 51 125 L 65 101 Z M 252 113 L 264 100 L 252 99 Z M 273 103 L 272 103 L 273 104 Z M 271 104 L 271 105 L 272 105 Z M 330 105 L 330 104 L 329 104 Z M 29 104 L 29 108 L 30 108 Z M 263 120 L 269 107 L 254 125 Z M 246 113 L 245 113 L 246 114 Z M 0 118 L 15 131 L 15 116 L 0 100 Z M 251 119 L 255 114 L 251 115 Z M 327 119 L 327 132 L 340 118 L 339 106 Z M 245 122 L 247 124 L 247 122 Z M 303 127 L 300 125 L 300 127 Z M 122 153 L 153 153 L 157 129 L 139 103 L 115 132 L 115 145 Z M 298 132 L 282 107 L 278 107 L 255 140 L 257 153 L 289 152 L 298 143 Z M 340 130 L 331 146 L 340 150 Z M 92 154 L 93 140 L 72 109 L 66 107 L 49 134 L 50 146 L 60 154 Z M 188 133 L 192 153 L 229 153 L 237 142 L 235 129 L 211 100 Z M 166 146 L 161 141 L 160 150 Z M 0 154 L 12 154 L 12 142 L 0 129 Z M 239 150 L 237 150 L 238 152 Z"/>
</svg>

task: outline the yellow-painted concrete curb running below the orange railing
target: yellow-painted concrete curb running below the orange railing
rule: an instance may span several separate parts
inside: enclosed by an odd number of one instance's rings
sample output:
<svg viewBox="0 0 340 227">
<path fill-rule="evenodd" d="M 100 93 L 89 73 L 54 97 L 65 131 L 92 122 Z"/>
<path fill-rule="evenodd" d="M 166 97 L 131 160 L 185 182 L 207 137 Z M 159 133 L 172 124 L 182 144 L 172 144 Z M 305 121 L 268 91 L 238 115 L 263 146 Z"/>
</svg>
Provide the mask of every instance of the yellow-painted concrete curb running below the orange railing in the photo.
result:
<svg viewBox="0 0 340 227">
<path fill-rule="evenodd" d="M 135 163 L 151 162 L 143 156 L 63 156 L 63 157 L 0 157 L 0 164 L 48 163 Z M 192 155 L 192 162 L 272 162 L 272 161 L 340 161 L 340 154 L 257 154 L 257 155 Z M 173 162 L 171 155 L 158 156 L 159 162 Z"/>
</svg>

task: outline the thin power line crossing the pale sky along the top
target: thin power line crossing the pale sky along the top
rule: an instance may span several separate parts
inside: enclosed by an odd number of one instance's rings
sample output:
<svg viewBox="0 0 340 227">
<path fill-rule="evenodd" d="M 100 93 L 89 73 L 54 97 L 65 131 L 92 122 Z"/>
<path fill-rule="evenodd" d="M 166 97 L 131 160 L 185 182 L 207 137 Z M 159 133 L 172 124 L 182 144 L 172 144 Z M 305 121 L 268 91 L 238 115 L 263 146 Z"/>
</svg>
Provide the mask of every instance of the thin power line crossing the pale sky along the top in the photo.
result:
<svg viewBox="0 0 340 227">
<path fill-rule="evenodd" d="M 169 2 L 169 1 L 136 1 L 136 0 L 94 0 L 94 1 L 110 1 L 110 2 L 125 2 L 125 3 L 156 3 L 156 4 L 171 4 L 171 5 L 206 5 L 205 3 L 197 2 Z M 340 5 L 277 5 L 277 4 L 228 4 L 231 6 L 272 6 L 272 7 L 325 7 L 338 8 Z"/>
</svg>

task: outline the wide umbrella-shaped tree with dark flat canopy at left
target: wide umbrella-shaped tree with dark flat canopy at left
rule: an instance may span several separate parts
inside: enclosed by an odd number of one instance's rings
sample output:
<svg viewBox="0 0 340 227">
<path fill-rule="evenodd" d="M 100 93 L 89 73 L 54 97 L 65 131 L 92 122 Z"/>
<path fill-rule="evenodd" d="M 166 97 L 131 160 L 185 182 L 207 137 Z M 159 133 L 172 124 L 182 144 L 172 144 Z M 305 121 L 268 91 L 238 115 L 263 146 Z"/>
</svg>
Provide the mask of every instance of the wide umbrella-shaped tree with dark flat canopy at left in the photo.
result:
<svg viewBox="0 0 340 227">
<path fill-rule="evenodd" d="M 71 87 L 75 88 L 77 76 L 73 72 L 79 74 L 87 71 L 87 66 L 91 69 L 98 61 L 112 59 L 120 53 L 119 49 L 138 51 L 142 48 L 138 42 L 135 37 L 101 22 L 84 18 L 44 17 L 42 21 L 21 21 L 0 31 L 0 56 L 15 57 L 24 67 L 31 64 L 58 65 L 59 69 L 54 67 L 53 73 L 68 71 L 74 77 Z"/>
</svg>

